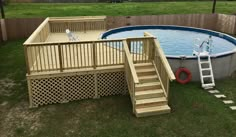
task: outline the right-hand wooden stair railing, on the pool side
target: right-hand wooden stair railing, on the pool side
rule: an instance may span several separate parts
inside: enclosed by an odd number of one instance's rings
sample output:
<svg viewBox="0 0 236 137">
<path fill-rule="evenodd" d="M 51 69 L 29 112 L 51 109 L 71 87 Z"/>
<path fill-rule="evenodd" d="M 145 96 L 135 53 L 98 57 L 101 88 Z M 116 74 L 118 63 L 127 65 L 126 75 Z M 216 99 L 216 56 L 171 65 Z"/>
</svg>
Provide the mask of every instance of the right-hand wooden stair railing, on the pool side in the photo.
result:
<svg viewBox="0 0 236 137">
<path fill-rule="evenodd" d="M 171 70 L 171 67 L 167 61 L 167 58 L 160 46 L 159 41 L 153 36 L 152 34 L 145 32 L 144 36 L 153 37 L 152 44 L 153 44 L 153 65 L 156 69 L 157 75 L 160 79 L 161 86 L 163 87 L 164 94 L 166 98 L 169 95 L 169 82 L 175 80 L 175 75 Z"/>
</svg>

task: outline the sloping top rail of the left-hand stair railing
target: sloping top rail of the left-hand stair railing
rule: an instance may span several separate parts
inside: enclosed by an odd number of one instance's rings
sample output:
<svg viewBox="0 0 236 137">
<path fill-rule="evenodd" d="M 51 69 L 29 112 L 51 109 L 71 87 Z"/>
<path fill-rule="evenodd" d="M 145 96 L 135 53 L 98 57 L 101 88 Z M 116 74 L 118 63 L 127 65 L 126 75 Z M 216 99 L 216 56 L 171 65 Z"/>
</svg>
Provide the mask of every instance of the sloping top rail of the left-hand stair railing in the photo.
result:
<svg viewBox="0 0 236 137">
<path fill-rule="evenodd" d="M 128 48 L 128 44 L 127 44 L 126 40 L 123 40 L 123 44 L 124 44 L 124 51 L 125 51 L 125 55 L 126 55 L 125 57 L 127 58 L 128 65 L 130 67 L 134 83 L 138 84 L 139 83 L 138 75 L 137 75 L 137 73 L 135 71 L 135 67 L 134 67 L 134 64 L 133 64 L 133 61 L 132 61 L 132 57 L 131 57 L 131 54 L 129 52 L 129 48 Z"/>
</svg>

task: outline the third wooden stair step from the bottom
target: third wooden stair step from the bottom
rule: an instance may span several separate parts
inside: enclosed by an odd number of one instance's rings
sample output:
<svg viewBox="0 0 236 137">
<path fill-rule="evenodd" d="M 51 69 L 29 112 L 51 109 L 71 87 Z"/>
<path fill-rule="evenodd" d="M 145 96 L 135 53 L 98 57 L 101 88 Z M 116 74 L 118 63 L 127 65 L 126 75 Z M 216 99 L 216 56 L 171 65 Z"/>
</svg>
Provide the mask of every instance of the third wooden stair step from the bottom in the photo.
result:
<svg viewBox="0 0 236 137">
<path fill-rule="evenodd" d="M 148 99 L 157 97 L 164 97 L 164 91 L 162 89 L 135 92 L 136 99 Z"/>
</svg>

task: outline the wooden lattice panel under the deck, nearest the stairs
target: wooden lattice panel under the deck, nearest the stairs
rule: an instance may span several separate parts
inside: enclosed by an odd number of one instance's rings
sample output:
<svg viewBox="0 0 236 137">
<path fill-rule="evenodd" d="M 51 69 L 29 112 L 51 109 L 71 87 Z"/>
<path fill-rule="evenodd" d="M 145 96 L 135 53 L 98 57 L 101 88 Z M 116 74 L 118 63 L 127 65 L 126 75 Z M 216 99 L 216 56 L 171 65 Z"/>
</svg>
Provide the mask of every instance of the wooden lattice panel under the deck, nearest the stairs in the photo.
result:
<svg viewBox="0 0 236 137">
<path fill-rule="evenodd" d="M 125 94 L 127 92 L 124 72 L 97 74 L 98 96 Z"/>
</svg>

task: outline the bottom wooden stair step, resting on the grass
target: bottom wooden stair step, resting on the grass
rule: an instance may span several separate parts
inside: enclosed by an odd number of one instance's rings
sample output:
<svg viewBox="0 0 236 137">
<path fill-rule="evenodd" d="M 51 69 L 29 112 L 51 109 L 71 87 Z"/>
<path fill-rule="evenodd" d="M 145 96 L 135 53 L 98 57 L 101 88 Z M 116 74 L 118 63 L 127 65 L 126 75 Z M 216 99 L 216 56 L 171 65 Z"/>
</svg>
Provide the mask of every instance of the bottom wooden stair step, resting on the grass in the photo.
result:
<svg viewBox="0 0 236 137">
<path fill-rule="evenodd" d="M 137 117 L 153 116 L 166 113 L 170 113 L 170 107 L 168 105 L 136 109 Z"/>
</svg>

